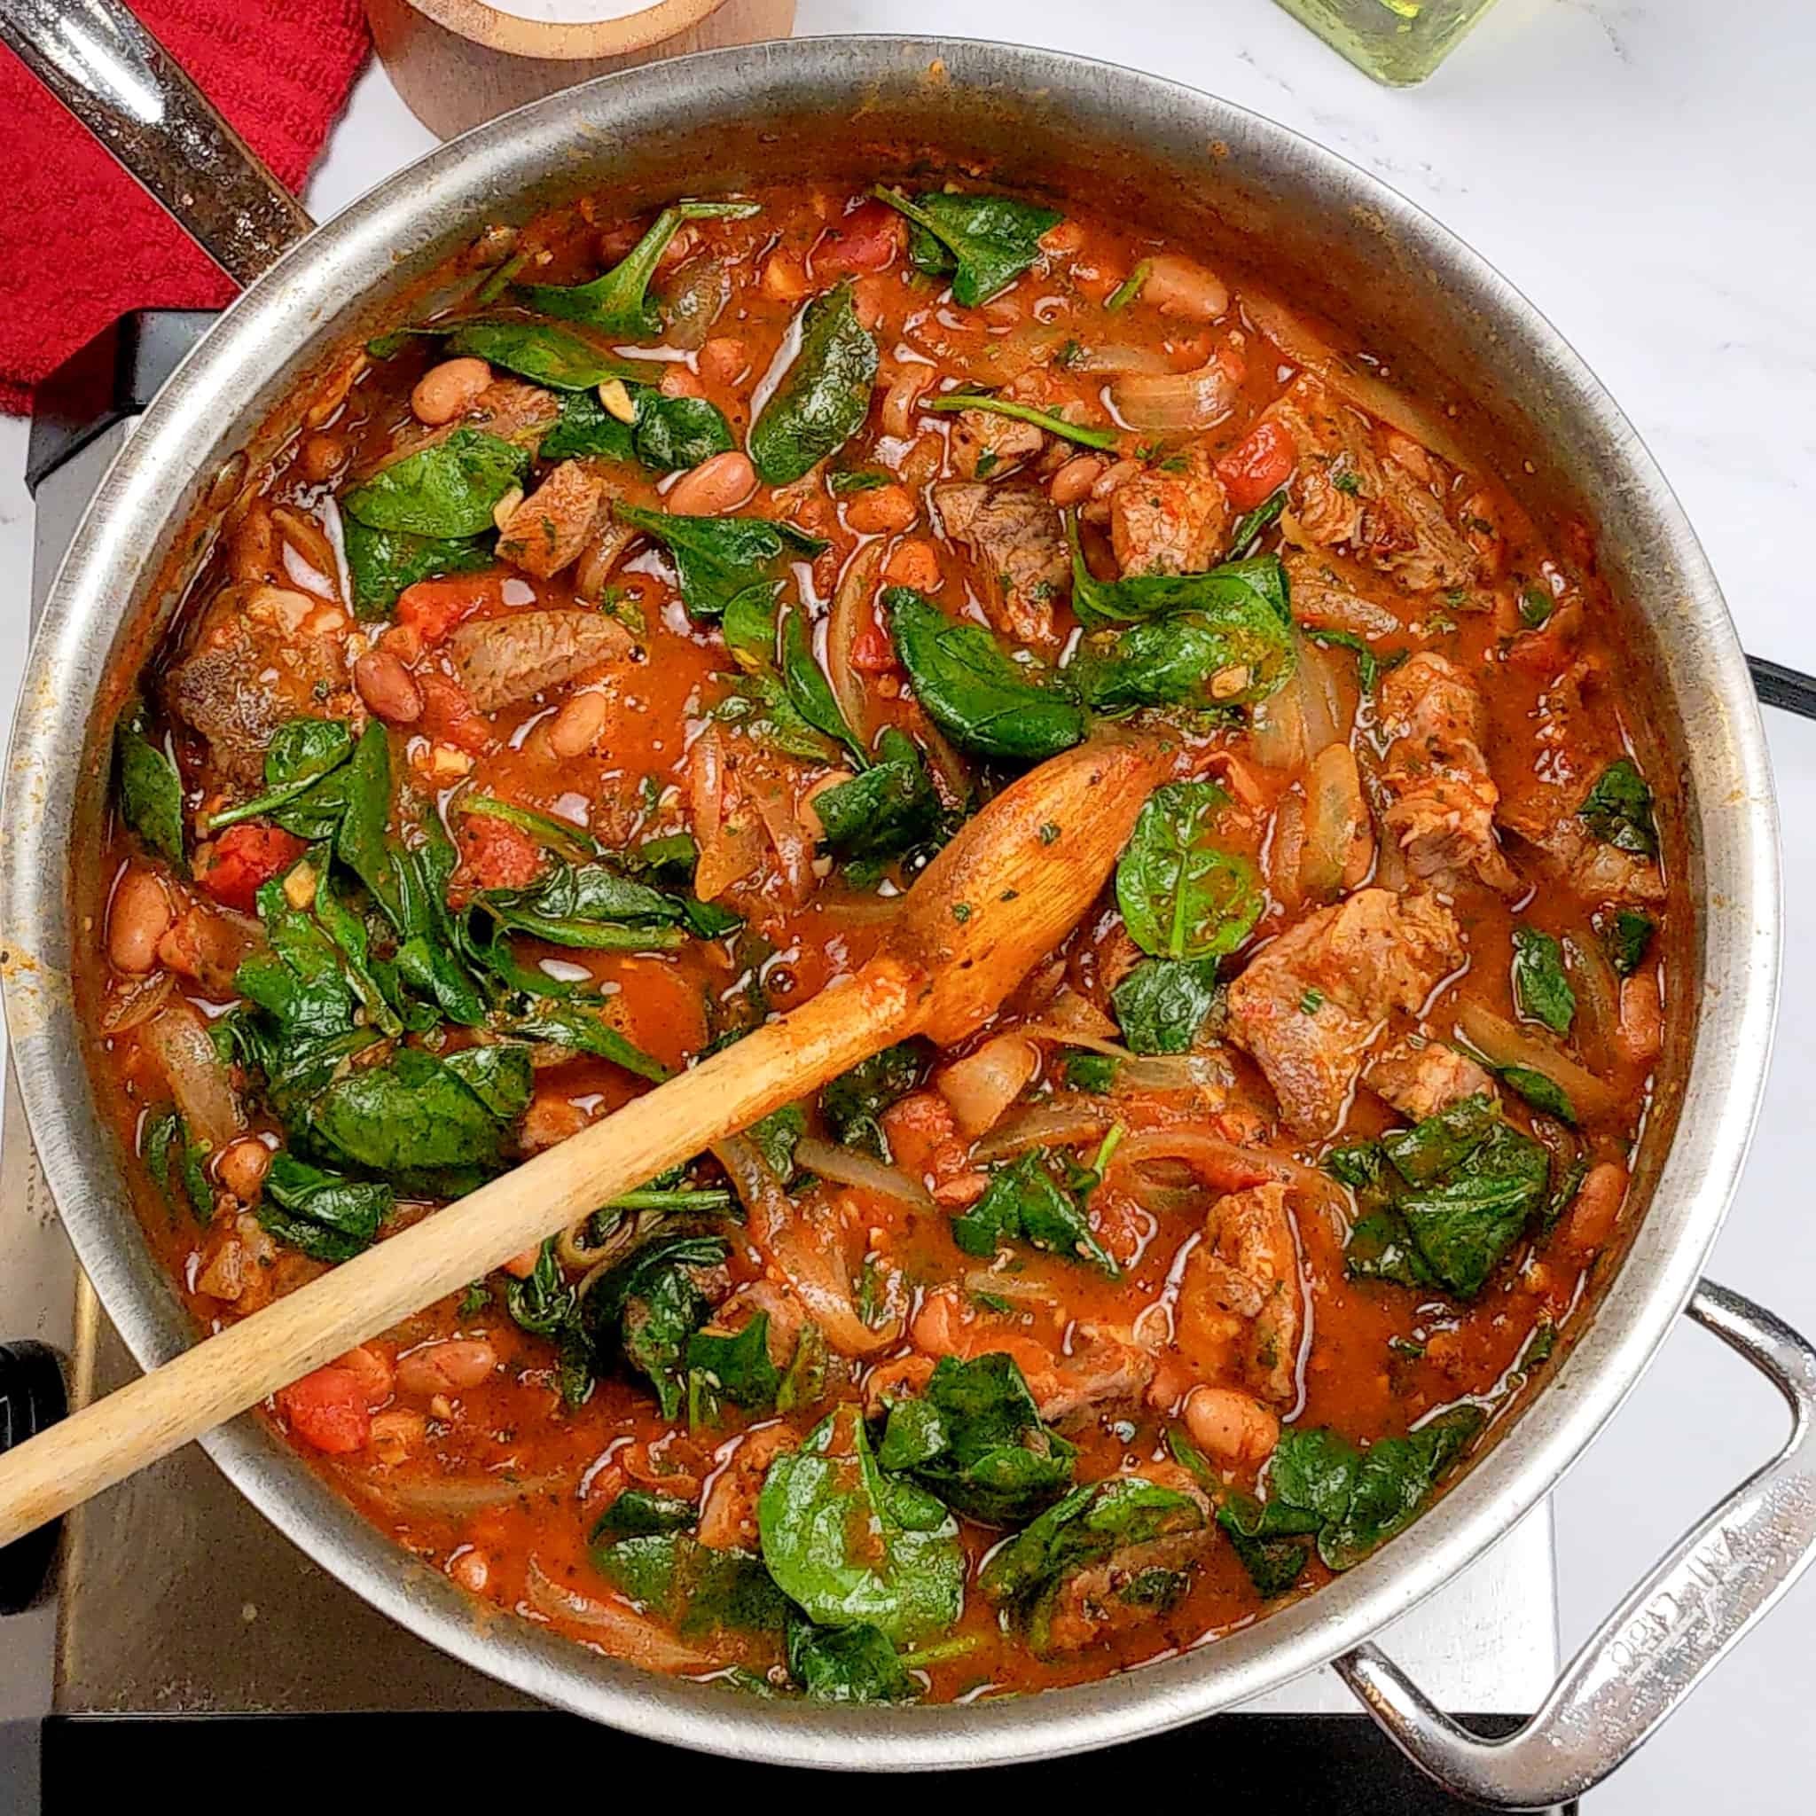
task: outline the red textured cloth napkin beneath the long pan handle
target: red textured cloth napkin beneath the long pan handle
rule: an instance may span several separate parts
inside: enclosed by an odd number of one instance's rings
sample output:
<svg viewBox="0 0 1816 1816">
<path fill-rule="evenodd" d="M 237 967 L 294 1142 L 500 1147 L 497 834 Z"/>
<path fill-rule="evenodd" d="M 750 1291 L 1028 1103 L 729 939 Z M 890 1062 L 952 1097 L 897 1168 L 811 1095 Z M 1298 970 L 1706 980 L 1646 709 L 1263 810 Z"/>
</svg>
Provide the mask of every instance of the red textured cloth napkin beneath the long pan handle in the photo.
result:
<svg viewBox="0 0 1816 1816">
<path fill-rule="evenodd" d="M 298 189 L 367 51 L 360 0 L 131 0 Z M 216 309 L 232 280 L 0 49 L 0 410 L 129 309 Z"/>
</svg>

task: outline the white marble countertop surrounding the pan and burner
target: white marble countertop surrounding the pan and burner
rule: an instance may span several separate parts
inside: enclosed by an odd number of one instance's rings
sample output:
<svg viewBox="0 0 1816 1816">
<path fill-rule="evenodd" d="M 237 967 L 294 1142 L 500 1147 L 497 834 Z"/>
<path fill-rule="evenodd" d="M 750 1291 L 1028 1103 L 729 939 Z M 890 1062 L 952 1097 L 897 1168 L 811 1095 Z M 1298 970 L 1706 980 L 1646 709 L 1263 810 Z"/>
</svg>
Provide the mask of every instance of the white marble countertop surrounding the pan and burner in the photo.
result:
<svg viewBox="0 0 1816 1816">
<path fill-rule="evenodd" d="M 1424 87 L 1375 87 L 1268 0 L 803 0 L 801 33 L 948 31 L 1211 89 L 1429 209 L 1569 336 L 1676 485 L 1754 654 L 1816 670 L 1796 523 L 1816 521 L 1816 15 L 1805 0 L 1500 0 Z M 327 216 L 430 143 L 369 71 L 309 192 Z M 29 568 L 24 425 L 0 419 L 0 572 Z M 25 596 L 0 616 L 0 697 Z M 1816 899 L 1816 726 L 1769 716 L 1787 899 Z M 1805 824 L 1809 823 L 1809 824 Z M 1712 1273 L 1816 1333 L 1803 1117 L 1816 943 L 1787 950 L 1760 1137 Z M 1683 1329 L 1556 1496 L 1565 1643 L 1781 1438 L 1776 1398 Z M 1816 1585 L 1805 1582 L 1589 1805 L 1811 1807 Z"/>
</svg>

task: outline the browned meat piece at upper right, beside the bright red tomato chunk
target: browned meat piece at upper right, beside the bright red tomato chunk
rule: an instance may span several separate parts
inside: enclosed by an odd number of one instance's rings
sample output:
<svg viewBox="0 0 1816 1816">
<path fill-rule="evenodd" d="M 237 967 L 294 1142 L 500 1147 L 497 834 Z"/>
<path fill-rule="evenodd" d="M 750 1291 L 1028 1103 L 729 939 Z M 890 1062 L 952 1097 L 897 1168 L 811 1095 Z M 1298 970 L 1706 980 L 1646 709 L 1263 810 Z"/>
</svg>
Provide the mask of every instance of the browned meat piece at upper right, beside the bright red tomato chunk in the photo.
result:
<svg viewBox="0 0 1816 1816">
<path fill-rule="evenodd" d="M 1411 592 L 1475 583 L 1476 554 L 1444 516 L 1431 483 L 1398 459 L 1382 459 L 1369 418 L 1335 398 L 1324 380 L 1302 372 L 1264 414 L 1298 450 L 1291 539 L 1322 548 L 1347 543 Z M 1426 467 L 1438 476 L 1436 459 L 1427 456 Z"/>
</svg>

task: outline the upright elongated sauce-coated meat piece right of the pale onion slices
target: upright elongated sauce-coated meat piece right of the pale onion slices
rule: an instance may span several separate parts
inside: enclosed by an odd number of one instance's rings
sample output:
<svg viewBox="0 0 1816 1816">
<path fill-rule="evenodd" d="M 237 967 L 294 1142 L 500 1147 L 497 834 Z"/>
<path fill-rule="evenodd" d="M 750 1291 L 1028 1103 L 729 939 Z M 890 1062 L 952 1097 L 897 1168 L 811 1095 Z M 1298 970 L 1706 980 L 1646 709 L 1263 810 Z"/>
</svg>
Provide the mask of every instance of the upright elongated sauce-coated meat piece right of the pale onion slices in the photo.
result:
<svg viewBox="0 0 1816 1816">
<path fill-rule="evenodd" d="M 1495 837 L 1500 790 L 1482 755 L 1487 710 L 1469 677 L 1444 656 L 1415 656 L 1380 685 L 1380 728 L 1391 739 L 1387 835 L 1413 875 L 1444 888 L 1473 877 L 1518 895 L 1525 884 Z"/>
</svg>

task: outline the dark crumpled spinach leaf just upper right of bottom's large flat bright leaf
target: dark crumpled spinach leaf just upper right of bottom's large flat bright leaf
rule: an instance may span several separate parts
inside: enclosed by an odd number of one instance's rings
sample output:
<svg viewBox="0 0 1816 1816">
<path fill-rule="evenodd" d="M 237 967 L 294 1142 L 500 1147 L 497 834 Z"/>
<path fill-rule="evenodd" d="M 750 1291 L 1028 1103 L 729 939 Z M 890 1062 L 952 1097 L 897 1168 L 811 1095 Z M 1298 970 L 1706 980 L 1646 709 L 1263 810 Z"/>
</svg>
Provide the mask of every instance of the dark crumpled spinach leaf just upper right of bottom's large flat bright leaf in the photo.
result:
<svg viewBox="0 0 1816 1816">
<path fill-rule="evenodd" d="M 1021 1525 L 1066 1493 L 1077 1455 L 1042 1424 L 1012 1357 L 941 1357 L 921 1398 L 890 1407 L 877 1464 L 912 1473 L 953 1513 Z"/>
</svg>

